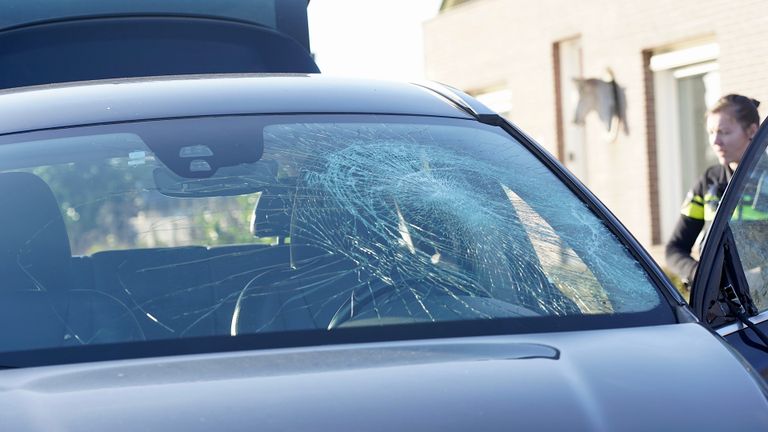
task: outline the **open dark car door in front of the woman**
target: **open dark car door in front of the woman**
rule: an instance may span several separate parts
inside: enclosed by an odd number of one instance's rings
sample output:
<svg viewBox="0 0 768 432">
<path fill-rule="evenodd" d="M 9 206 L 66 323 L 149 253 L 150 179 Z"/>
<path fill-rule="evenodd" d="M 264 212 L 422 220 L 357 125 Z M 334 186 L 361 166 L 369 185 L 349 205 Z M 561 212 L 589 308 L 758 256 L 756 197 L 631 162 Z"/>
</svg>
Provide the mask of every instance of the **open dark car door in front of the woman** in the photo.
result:
<svg viewBox="0 0 768 432">
<path fill-rule="evenodd" d="M 768 379 L 768 122 L 734 173 L 691 289 L 696 315 Z"/>
</svg>

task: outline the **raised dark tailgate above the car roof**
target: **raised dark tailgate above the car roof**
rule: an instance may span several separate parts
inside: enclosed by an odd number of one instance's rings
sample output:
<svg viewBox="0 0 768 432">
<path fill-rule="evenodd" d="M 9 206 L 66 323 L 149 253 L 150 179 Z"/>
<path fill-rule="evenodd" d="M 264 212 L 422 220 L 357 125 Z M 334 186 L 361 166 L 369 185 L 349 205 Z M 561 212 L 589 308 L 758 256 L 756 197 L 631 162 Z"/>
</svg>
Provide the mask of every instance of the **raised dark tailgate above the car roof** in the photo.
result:
<svg viewBox="0 0 768 432">
<path fill-rule="evenodd" d="M 0 18 L 0 88 L 152 75 L 319 72 L 303 0 L 12 3 Z"/>
</svg>

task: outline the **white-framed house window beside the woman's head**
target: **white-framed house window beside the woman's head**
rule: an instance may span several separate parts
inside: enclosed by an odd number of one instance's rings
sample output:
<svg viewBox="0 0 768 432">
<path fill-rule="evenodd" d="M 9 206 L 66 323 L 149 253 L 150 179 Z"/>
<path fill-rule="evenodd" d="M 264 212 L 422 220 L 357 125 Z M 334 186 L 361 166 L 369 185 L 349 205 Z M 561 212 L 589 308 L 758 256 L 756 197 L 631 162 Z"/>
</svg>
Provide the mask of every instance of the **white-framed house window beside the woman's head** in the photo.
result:
<svg viewBox="0 0 768 432">
<path fill-rule="evenodd" d="M 718 45 L 659 50 L 650 56 L 656 124 L 659 227 L 666 242 L 688 189 L 717 158 L 705 115 L 720 97 Z"/>
</svg>

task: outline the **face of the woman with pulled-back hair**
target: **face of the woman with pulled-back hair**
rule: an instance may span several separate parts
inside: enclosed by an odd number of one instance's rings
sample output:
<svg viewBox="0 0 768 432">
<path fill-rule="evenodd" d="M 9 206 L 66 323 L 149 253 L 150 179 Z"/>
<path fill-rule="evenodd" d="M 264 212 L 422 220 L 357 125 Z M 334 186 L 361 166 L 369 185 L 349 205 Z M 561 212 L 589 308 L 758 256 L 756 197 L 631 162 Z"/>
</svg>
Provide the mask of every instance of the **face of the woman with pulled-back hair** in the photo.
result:
<svg viewBox="0 0 768 432">
<path fill-rule="evenodd" d="M 707 116 L 709 144 L 712 146 L 721 164 L 738 164 L 741 155 L 747 149 L 749 141 L 757 131 L 757 125 L 750 125 L 746 130 L 736 119 L 726 112 Z"/>
</svg>

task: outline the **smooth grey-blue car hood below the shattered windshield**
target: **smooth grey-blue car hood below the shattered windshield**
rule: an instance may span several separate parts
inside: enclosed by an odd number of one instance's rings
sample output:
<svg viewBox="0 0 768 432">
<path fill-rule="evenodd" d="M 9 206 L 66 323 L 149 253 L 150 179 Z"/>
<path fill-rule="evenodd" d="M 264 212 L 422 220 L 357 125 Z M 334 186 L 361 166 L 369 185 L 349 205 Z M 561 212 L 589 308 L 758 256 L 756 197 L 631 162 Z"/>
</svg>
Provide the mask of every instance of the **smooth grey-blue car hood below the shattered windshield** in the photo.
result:
<svg viewBox="0 0 768 432">
<path fill-rule="evenodd" d="M 5 430 L 765 430 L 698 324 L 6 370 Z"/>
</svg>

